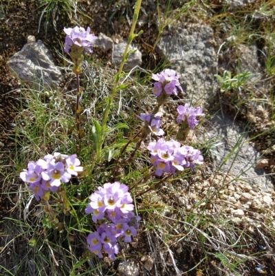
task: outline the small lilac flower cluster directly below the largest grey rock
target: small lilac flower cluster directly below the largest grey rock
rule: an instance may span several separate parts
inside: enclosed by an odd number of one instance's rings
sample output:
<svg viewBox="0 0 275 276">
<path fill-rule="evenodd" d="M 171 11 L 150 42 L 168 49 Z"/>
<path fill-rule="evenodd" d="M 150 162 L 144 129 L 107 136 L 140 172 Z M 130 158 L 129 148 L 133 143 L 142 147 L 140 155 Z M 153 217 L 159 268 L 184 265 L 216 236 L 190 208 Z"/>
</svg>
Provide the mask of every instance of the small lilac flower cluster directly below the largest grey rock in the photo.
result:
<svg viewBox="0 0 275 276">
<path fill-rule="evenodd" d="M 194 129 L 195 125 L 199 125 L 196 116 L 205 116 L 205 114 L 202 113 L 201 107 L 189 107 L 188 103 L 184 106 L 179 105 L 177 107 L 177 112 L 179 113 L 179 116 L 177 116 L 177 123 L 180 124 L 181 122 L 186 122 L 187 120 L 190 129 Z"/>
</svg>

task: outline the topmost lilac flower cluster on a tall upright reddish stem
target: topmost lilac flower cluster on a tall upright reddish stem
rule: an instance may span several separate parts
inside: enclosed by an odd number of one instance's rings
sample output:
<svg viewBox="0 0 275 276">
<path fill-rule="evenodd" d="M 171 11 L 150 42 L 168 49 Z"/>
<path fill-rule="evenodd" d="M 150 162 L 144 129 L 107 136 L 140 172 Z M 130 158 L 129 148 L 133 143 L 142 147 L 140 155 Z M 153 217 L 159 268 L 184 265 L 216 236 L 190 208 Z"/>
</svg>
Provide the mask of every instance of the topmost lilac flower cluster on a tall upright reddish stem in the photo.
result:
<svg viewBox="0 0 275 276">
<path fill-rule="evenodd" d="M 75 28 L 64 28 L 65 44 L 64 44 L 64 52 L 67 53 L 71 49 L 72 45 L 77 45 L 79 47 L 83 47 L 85 50 L 89 52 L 93 52 L 91 47 L 93 46 L 94 41 L 96 40 L 96 36 L 94 34 L 90 34 L 90 28 L 75 27 Z"/>
</svg>

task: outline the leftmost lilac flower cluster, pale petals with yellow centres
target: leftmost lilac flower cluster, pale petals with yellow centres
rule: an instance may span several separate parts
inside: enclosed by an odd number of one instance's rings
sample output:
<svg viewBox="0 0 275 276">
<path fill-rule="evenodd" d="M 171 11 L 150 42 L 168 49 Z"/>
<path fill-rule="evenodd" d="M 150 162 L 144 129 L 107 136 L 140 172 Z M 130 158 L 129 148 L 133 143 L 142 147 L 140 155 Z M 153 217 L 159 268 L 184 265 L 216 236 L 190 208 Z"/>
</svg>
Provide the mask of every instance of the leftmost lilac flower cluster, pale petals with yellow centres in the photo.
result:
<svg viewBox="0 0 275 276">
<path fill-rule="evenodd" d="M 61 180 L 69 182 L 72 176 L 77 176 L 79 171 L 83 171 L 83 167 L 79 165 L 80 160 L 76 158 L 76 154 L 67 156 L 56 152 L 54 155 L 47 154 L 44 159 L 36 162 L 28 162 L 28 169 L 20 173 L 20 178 L 29 184 L 36 200 L 40 200 L 45 192 L 57 191 Z"/>
</svg>

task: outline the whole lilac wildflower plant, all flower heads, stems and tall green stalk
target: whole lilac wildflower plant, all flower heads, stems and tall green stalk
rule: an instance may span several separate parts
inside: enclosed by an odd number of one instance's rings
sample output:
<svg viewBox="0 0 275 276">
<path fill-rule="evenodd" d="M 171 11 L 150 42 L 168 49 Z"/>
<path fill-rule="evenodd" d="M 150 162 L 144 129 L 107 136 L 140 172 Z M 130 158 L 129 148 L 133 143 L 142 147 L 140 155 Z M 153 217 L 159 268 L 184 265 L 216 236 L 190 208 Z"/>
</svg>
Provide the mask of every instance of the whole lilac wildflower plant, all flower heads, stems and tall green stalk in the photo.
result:
<svg viewBox="0 0 275 276">
<path fill-rule="evenodd" d="M 123 76 L 123 65 L 129 56 L 129 45 L 133 38 L 139 34 L 134 34 L 135 23 L 137 22 L 138 12 L 140 10 L 141 0 L 138 0 L 135 6 L 135 16 L 133 19 L 133 25 L 129 34 L 129 40 L 126 45 L 126 49 L 122 56 L 122 63 L 118 73 L 115 75 L 114 87 L 111 91 L 111 95 L 106 98 L 106 105 L 102 112 L 102 120 L 98 122 L 96 119 L 92 120 L 92 136 L 91 139 L 94 142 L 94 152 L 91 153 L 92 165 L 90 174 L 95 171 L 97 164 L 104 163 L 105 161 L 113 162 L 112 170 L 113 176 L 117 179 L 122 178 L 119 168 L 125 164 L 131 164 L 135 153 L 140 149 L 142 142 L 146 143 L 146 138 L 150 135 L 153 141 L 148 142 L 148 160 L 151 165 L 144 170 L 144 175 L 141 180 L 137 180 L 129 189 L 126 184 L 122 184 L 118 181 L 113 183 L 107 182 L 102 187 L 98 187 L 98 191 L 94 191 L 89 196 L 89 204 L 84 202 L 86 206 L 85 213 L 91 214 L 91 227 L 85 229 L 90 232 L 87 235 L 87 244 L 89 251 L 94 253 L 98 257 L 102 258 L 104 255 L 108 255 L 110 259 L 115 259 L 119 254 L 120 244 L 122 242 L 131 242 L 132 237 L 137 235 L 139 228 L 139 221 L 141 217 L 135 215 L 135 205 L 133 204 L 133 198 L 131 193 L 135 193 L 140 182 L 148 180 L 146 176 L 151 176 L 159 180 L 158 185 L 162 184 L 175 176 L 175 174 L 184 171 L 184 169 L 195 170 L 195 166 L 203 164 L 203 156 L 199 149 L 190 147 L 189 145 L 181 145 L 181 142 L 170 139 L 165 140 L 165 131 L 162 129 L 162 118 L 157 114 L 159 107 L 166 104 L 168 98 L 172 95 L 177 95 L 183 89 L 179 83 L 180 75 L 175 70 L 166 69 L 160 73 L 152 74 L 152 79 L 155 81 L 151 92 L 155 95 L 156 105 L 151 114 L 140 114 L 137 118 L 140 118 L 144 125 L 137 131 L 132 138 L 128 140 L 124 139 L 123 142 L 113 141 L 112 145 L 108 145 L 107 136 L 118 128 L 125 128 L 125 125 L 119 123 L 115 126 L 109 127 L 109 112 L 113 106 L 113 100 L 118 89 L 123 90 L 124 85 L 119 85 L 120 78 Z M 96 40 L 96 36 L 91 34 L 91 30 L 88 27 L 87 30 L 82 27 L 64 28 L 66 34 L 64 51 L 71 56 L 74 63 L 73 72 L 76 74 L 77 81 L 77 95 L 76 95 L 76 129 L 78 132 L 78 142 L 85 135 L 85 129 L 80 128 L 80 94 L 82 88 L 80 87 L 79 75 L 81 73 L 81 63 L 83 62 L 85 52 L 92 52 L 92 46 Z M 200 107 L 190 107 L 188 104 L 177 108 L 179 116 L 177 117 L 177 123 L 180 124 L 179 132 L 182 131 L 182 125 L 184 129 L 194 129 L 198 125 L 199 116 L 203 116 L 202 109 Z M 128 126 L 127 126 L 128 127 Z M 187 131 L 184 135 L 187 134 Z M 163 136 L 159 138 L 159 136 Z M 184 139 L 179 139 L 184 141 Z M 135 143 L 135 148 L 129 147 L 130 144 Z M 130 148 L 127 150 L 127 148 Z M 131 151 L 131 153 L 129 153 Z M 150 154 L 150 157 L 149 157 Z M 80 157 L 81 151 L 80 151 Z M 107 158 L 104 156 L 107 155 Z M 121 158 L 123 157 L 123 158 Z M 106 164 L 106 163 L 104 163 Z M 88 164 L 87 164 L 88 165 Z M 149 170 L 154 168 L 155 171 L 149 173 Z M 60 198 L 60 203 L 63 205 L 64 212 L 76 217 L 76 212 L 71 209 L 73 204 L 69 202 L 66 197 L 69 186 L 67 183 L 72 179 L 72 176 L 78 177 L 80 173 L 83 173 L 84 168 L 80 166 L 80 160 L 73 154 L 68 156 L 66 154 L 54 153 L 47 154 L 43 159 L 37 161 L 28 162 L 28 169 L 24 169 L 20 173 L 21 179 L 28 184 L 28 187 L 34 193 L 36 200 L 44 200 L 45 212 L 50 217 L 50 222 L 59 226 L 58 217 L 50 206 L 50 193 L 56 192 Z M 106 171 L 108 169 L 106 168 Z M 153 176 L 155 174 L 155 176 Z M 164 176 L 164 177 L 163 177 Z M 162 178 L 163 177 L 163 178 Z M 86 187 L 89 190 L 92 189 L 92 184 Z M 146 193 L 154 189 L 155 185 L 148 181 L 148 189 L 142 191 Z M 131 193 L 130 193 L 131 191 Z M 142 195 L 142 193 L 135 194 L 135 196 Z M 87 200 L 87 199 L 86 199 Z M 84 215 L 84 212 L 83 214 Z M 78 220 L 79 224 L 79 220 Z M 81 227 L 83 230 L 83 227 Z"/>
</svg>

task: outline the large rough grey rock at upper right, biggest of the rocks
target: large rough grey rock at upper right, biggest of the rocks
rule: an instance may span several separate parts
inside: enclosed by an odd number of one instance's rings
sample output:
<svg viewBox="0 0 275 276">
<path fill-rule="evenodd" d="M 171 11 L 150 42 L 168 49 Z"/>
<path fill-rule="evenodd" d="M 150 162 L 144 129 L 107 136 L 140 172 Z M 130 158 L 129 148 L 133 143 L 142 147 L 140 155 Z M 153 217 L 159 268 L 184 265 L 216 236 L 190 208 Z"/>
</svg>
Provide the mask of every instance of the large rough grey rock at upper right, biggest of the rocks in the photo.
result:
<svg viewBox="0 0 275 276">
<path fill-rule="evenodd" d="M 181 74 L 179 82 L 186 98 L 201 100 L 212 96 L 217 89 L 214 79 L 216 74 L 216 53 L 212 45 L 213 31 L 208 25 L 191 24 L 179 28 L 176 34 L 163 36 L 157 49 L 171 63 L 172 69 Z"/>
</svg>

